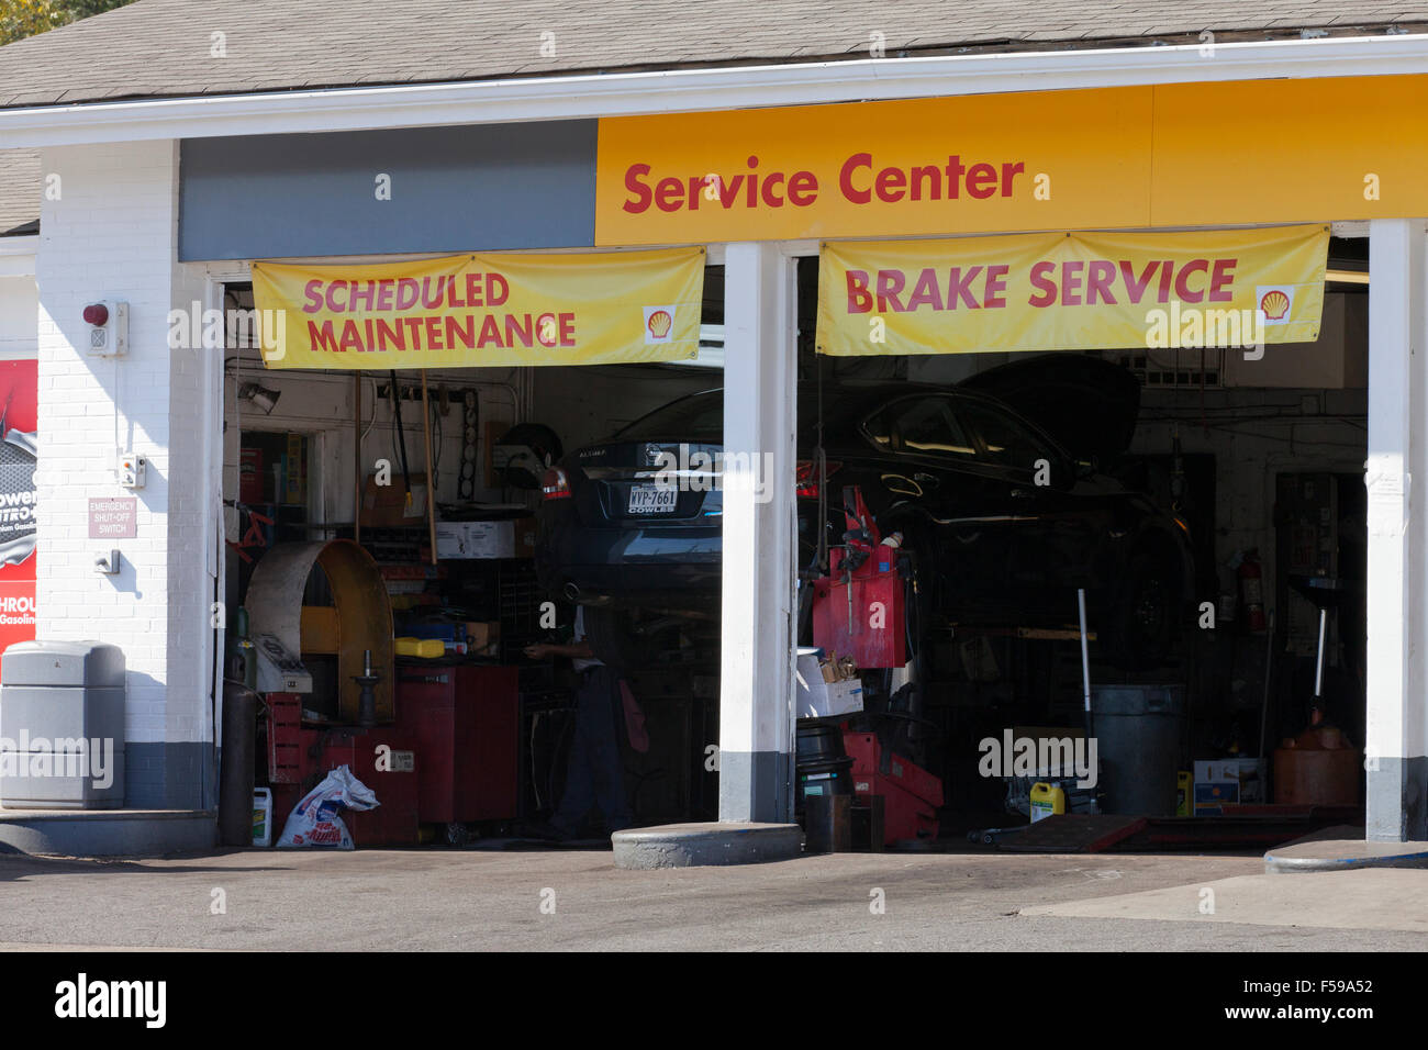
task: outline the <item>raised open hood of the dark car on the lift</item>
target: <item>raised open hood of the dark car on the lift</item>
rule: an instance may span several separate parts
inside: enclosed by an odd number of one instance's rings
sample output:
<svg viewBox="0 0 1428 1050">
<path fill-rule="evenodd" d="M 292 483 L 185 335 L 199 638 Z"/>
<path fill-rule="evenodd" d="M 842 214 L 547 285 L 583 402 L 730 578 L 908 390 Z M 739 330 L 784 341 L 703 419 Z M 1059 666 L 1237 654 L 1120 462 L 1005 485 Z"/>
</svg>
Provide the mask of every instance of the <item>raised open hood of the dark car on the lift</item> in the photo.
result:
<svg viewBox="0 0 1428 1050">
<path fill-rule="evenodd" d="M 1071 351 L 1022 357 L 958 386 L 1011 406 L 1078 460 L 1121 456 L 1141 410 L 1141 383 L 1128 369 Z"/>
</svg>

